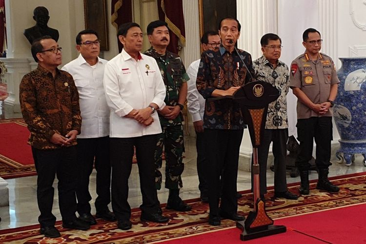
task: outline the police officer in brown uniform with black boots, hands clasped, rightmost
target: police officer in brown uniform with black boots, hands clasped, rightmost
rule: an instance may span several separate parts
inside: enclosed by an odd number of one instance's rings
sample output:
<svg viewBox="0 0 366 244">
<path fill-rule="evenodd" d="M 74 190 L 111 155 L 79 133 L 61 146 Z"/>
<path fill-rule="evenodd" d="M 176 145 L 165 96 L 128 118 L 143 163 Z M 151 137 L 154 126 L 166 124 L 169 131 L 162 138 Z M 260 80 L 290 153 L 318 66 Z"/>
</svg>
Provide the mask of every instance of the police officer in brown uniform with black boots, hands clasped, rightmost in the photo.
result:
<svg viewBox="0 0 366 244">
<path fill-rule="evenodd" d="M 309 28 L 303 34 L 305 53 L 291 63 L 290 87 L 297 97 L 297 134 L 300 153 L 296 165 L 300 170 L 299 191 L 309 194 L 309 161 L 316 142 L 318 183 L 316 188 L 328 192 L 338 192 L 339 187 L 328 180 L 330 163 L 330 143 L 333 140 L 332 110 L 337 96 L 338 83 L 333 60 L 320 53 L 322 47 L 320 32 Z"/>
</svg>

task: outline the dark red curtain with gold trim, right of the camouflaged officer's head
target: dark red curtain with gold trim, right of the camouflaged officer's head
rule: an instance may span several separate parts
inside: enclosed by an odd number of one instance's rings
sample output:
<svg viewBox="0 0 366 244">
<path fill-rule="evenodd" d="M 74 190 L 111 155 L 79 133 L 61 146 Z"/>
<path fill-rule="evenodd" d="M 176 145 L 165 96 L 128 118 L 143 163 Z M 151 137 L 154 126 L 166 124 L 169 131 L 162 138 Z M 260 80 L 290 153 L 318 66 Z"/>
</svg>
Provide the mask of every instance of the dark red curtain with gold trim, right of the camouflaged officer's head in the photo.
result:
<svg viewBox="0 0 366 244">
<path fill-rule="evenodd" d="M 158 0 L 159 20 L 168 23 L 170 29 L 170 44 L 168 51 L 178 54 L 181 48 L 178 40 L 185 46 L 185 30 L 182 0 Z"/>
</svg>

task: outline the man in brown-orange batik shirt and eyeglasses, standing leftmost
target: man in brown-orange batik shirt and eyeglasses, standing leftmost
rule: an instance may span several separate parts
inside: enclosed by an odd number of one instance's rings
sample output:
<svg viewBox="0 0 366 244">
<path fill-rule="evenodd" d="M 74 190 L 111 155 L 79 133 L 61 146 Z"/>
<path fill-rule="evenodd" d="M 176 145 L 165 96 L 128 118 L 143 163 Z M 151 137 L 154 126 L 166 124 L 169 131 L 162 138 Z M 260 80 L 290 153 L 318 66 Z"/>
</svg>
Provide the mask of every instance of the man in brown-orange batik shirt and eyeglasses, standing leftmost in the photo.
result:
<svg viewBox="0 0 366 244">
<path fill-rule="evenodd" d="M 86 230 L 90 225 L 75 215 L 77 203 L 76 136 L 81 130 L 79 94 L 72 76 L 57 68 L 62 62 L 62 48 L 51 36 L 36 39 L 31 47 L 37 69 L 20 82 L 20 107 L 31 132 L 37 178 L 37 201 L 41 215 L 40 232 L 46 237 L 60 237 L 52 214 L 57 175 L 59 206 L 64 228 Z"/>
</svg>

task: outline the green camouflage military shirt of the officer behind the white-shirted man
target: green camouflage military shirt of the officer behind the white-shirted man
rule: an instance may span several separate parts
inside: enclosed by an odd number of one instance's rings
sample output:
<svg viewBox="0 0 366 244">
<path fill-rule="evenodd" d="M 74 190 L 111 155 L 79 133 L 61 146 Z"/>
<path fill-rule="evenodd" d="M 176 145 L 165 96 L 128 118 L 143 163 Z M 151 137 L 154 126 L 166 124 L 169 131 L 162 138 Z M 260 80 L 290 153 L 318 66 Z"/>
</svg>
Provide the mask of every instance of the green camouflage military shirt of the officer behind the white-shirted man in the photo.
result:
<svg viewBox="0 0 366 244">
<path fill-rule="evenodd" d="M 162 56 L 153 47 L 150 47 L 144 54 L 153 57 L 158 63 L 165 84 L 165 104 L 176 106 L 179 99 L 179 89 L 184 82 L 189 81 L 189 76 L 185 72 L 181 58 L 169 51 L 166 51 L 165 55 Z M 182 124 L 181 116 L 174 120 L 167 120 L 159 114 L 159 120 L 162 126 Z"/>
</svg>

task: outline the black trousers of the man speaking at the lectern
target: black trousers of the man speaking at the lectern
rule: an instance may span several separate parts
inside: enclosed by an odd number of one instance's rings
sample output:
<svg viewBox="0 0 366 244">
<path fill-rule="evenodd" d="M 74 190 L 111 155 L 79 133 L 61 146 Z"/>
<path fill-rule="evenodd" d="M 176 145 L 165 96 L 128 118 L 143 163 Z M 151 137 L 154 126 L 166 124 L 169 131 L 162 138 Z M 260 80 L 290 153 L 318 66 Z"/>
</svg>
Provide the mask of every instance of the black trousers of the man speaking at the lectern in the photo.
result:
<svg viewBox="0 0 366 244">
<path fill-rule="evenodd" d="M 219 216 L 220 209 L 228 214 L 238 211 L 236 199 L 239 149 L 243 130 L 204 129 L 206 142 L 208 201 L 210 216 Z"/>
</svg>

